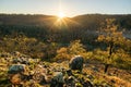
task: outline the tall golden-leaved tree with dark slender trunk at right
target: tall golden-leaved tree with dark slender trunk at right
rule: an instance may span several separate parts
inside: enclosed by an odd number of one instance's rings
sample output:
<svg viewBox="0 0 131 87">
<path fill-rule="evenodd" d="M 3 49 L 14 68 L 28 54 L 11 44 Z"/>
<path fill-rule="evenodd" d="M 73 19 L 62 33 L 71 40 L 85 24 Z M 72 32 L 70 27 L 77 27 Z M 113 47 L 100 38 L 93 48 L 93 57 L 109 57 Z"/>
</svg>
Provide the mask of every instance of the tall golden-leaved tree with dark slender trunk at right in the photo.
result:
<svg viewBox="0 0 131 87">
<path fill-rule="evenodd" d="M 123 44 L 124 37 L 122 36 L 122 32 L 119 32 L 119 26 L 116 25 L 115 18 L 107 18 L 105 23 L 102 24 L 100 27 L 100 35 L 98 36 L 97 40 L 103 41 L 107 45 L 108 58 L 105 59 L 105 70 L 106 73 L 110 61 L 112 58 L 112 53 L 115 53 L 116 47 L 120 47 L 120 44 Z"/>
</svg>

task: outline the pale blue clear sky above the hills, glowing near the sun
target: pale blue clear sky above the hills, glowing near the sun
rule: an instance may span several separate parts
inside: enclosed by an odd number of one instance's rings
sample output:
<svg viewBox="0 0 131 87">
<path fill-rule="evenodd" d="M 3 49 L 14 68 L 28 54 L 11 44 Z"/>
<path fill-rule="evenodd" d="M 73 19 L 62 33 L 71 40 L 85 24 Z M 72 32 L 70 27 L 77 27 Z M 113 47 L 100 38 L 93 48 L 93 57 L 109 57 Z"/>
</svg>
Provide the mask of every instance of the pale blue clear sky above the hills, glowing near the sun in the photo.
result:
<svg viewBox="0 0 131 87">
<path fill-rule="evenodd" d="M 0 0 L 0 13 L 57 15 L 131 14 L 131 0 Z"/>
</svg>

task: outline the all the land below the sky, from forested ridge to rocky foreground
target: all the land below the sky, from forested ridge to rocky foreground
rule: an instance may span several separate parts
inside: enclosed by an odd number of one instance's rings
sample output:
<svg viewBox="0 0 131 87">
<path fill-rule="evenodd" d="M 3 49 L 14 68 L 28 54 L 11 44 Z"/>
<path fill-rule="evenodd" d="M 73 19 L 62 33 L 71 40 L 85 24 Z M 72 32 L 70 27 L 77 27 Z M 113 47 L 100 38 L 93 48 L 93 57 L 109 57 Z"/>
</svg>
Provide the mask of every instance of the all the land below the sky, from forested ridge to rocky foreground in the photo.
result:
<svg viewBox="0 0 131 87">
<path fill-rule="evenodd" d="M 0 14 L 0 87 L 12 85 L 130 87 L 131 15 Z"/>
</svg>

